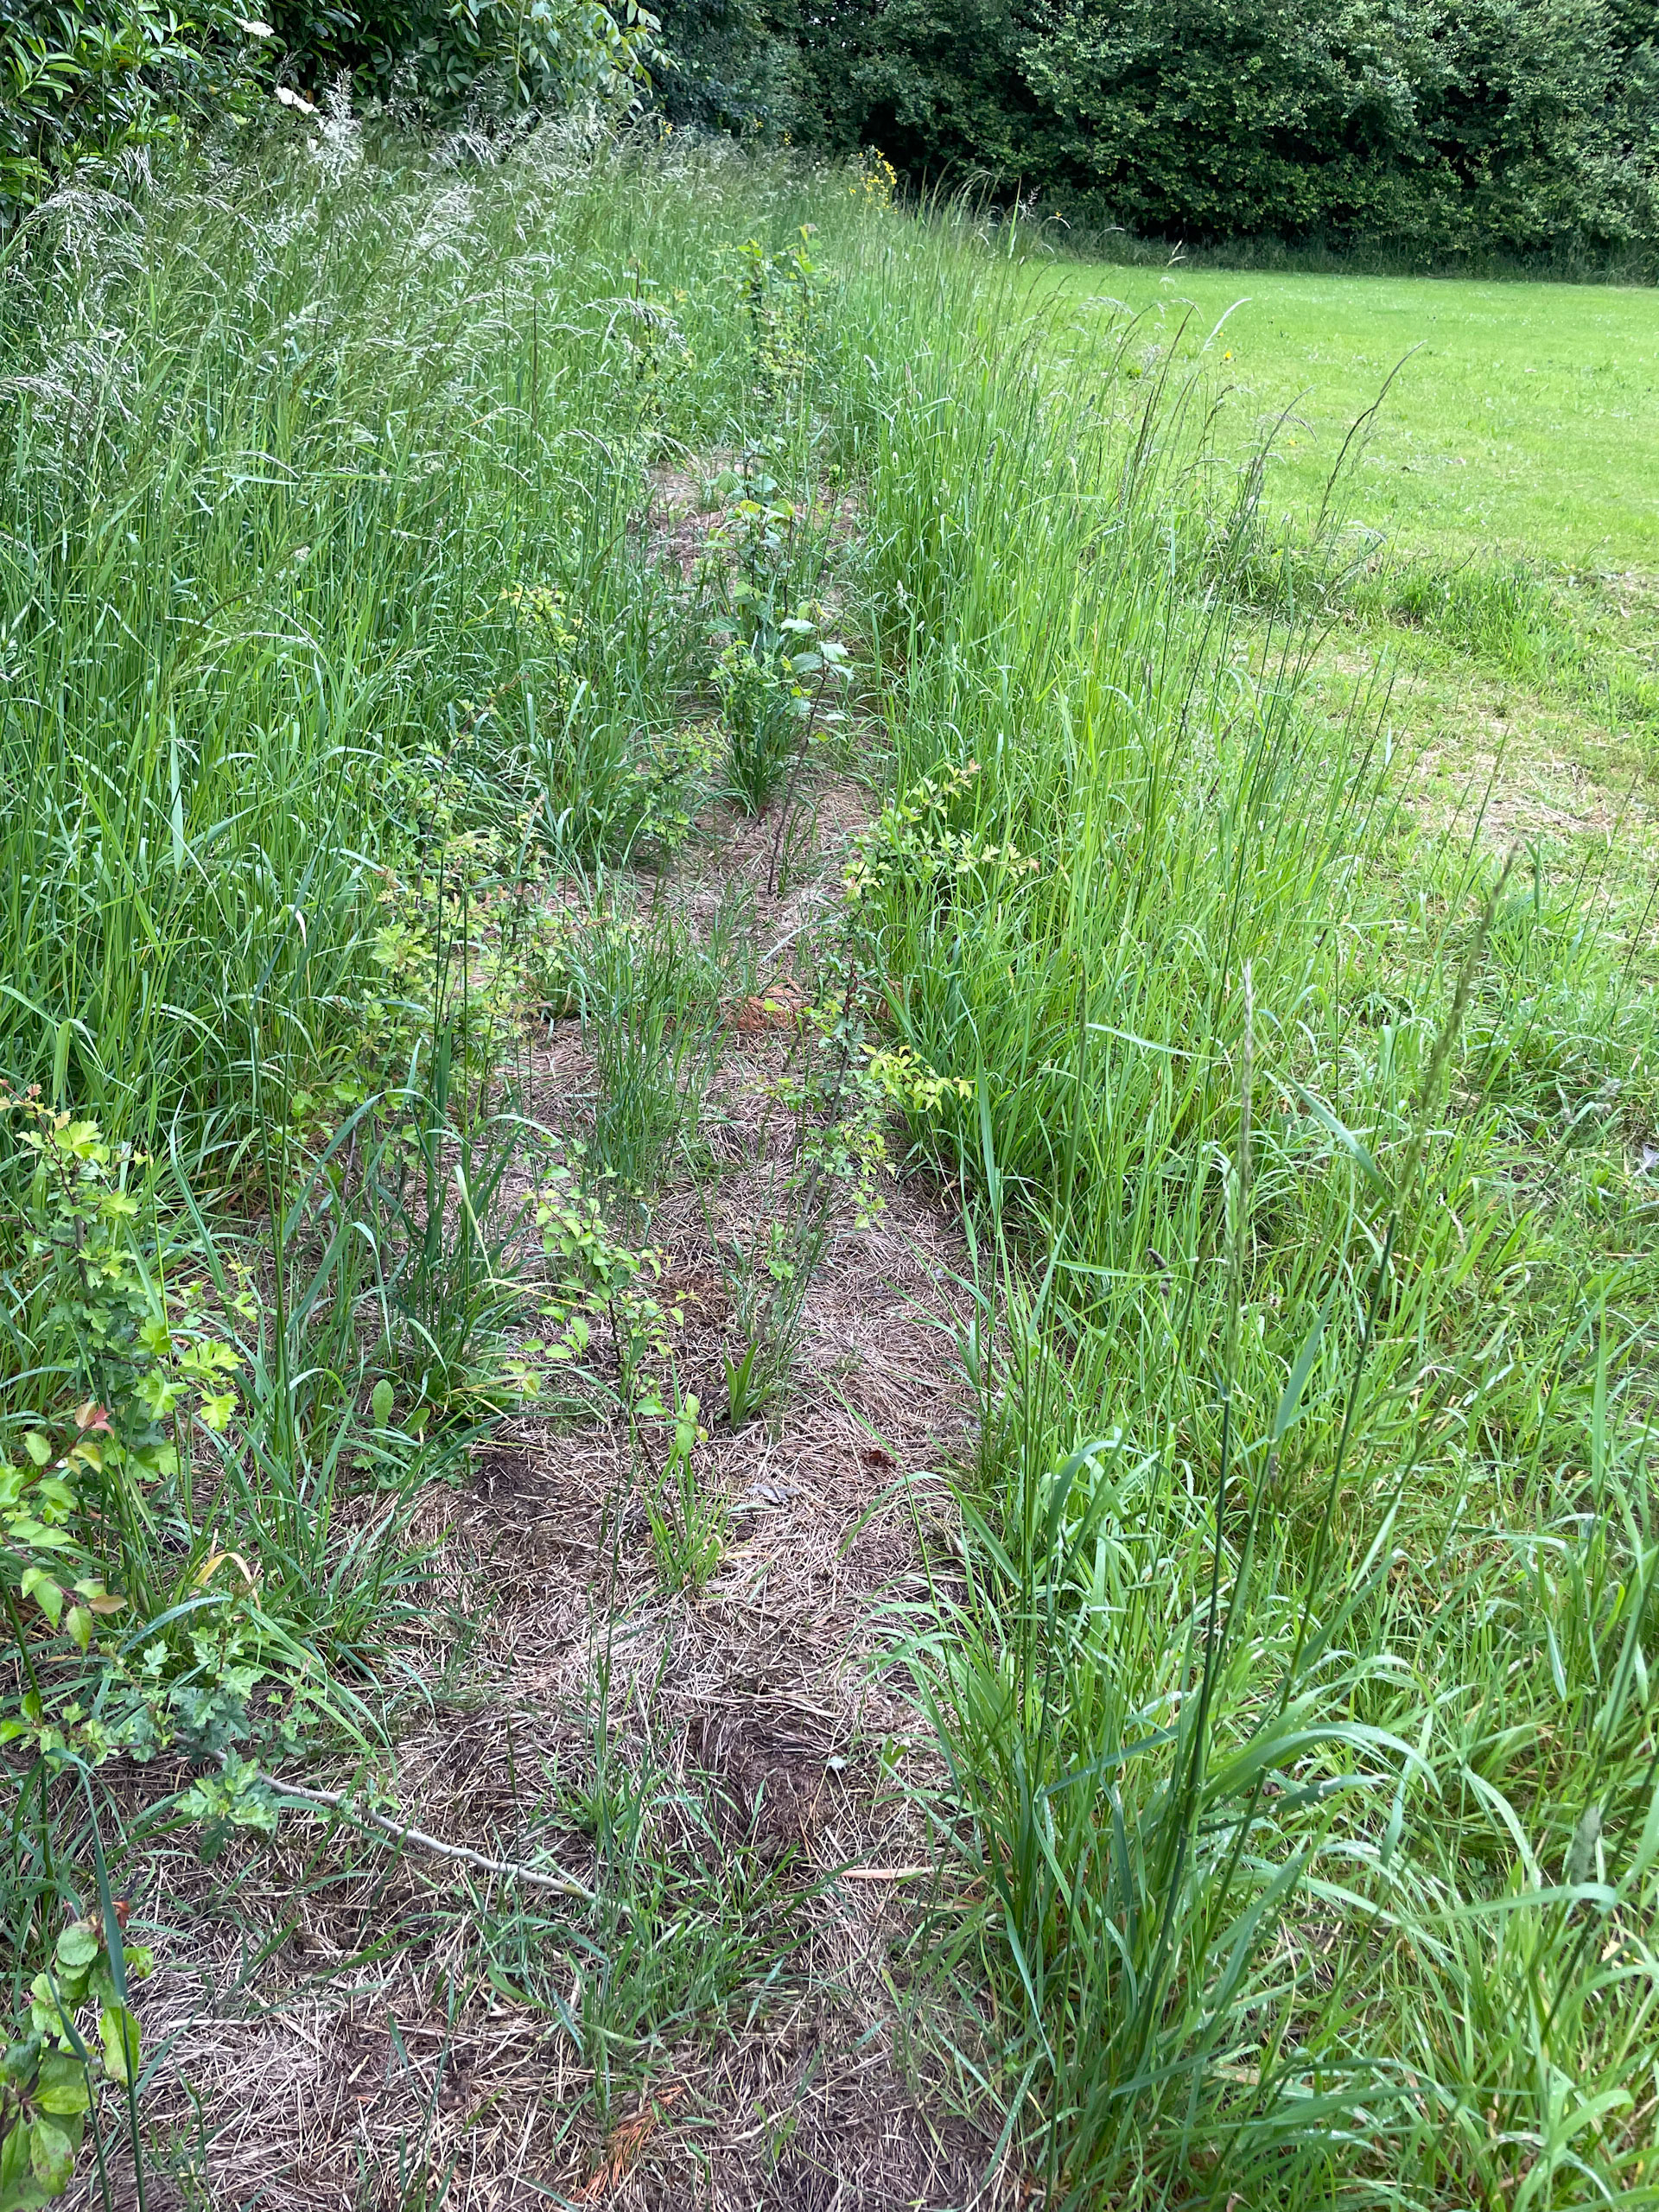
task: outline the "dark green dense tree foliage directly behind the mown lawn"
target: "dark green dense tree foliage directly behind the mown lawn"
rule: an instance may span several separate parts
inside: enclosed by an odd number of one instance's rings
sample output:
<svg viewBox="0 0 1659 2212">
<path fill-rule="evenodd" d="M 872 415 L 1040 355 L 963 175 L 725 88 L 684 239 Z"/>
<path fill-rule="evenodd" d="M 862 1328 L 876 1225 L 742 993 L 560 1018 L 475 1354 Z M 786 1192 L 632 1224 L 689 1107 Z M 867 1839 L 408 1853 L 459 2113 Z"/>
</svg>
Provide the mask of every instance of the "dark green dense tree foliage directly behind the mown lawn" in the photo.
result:
<svg viewBox="0 0 1659 2212">
<path fill-rule="evenodd" d="M 748 119 L 1190 241 L 1659 237 L 1650 0 L 759 0 Z M 670 0 L 692 64 L 745 0 Z M 690 91 L 675 95 L 695 113 Z M 730 91 L 726 106 L 732 106 Z M 723 117 L 719 117 L 723 119 Z"/>
</svg>

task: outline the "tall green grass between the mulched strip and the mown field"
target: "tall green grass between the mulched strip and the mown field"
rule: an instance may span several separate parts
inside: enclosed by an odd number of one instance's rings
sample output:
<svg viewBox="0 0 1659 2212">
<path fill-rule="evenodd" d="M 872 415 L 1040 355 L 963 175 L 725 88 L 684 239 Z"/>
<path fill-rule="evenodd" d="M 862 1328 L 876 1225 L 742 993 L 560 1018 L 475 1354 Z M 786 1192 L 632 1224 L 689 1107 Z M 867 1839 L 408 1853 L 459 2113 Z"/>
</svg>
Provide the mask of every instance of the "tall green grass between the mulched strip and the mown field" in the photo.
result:
<svg viewBox="0 0 1659 2212">
<path fill-rule="evenodd" d="M 1646 916 L 1420 830 L 1097 378 L 909 334 L 869 451 L 896 779 L 991 852 L 874 894 L 971 1091 L 964 2062 L 1055 2203 L 1648 2201 Z"/>
</svg>

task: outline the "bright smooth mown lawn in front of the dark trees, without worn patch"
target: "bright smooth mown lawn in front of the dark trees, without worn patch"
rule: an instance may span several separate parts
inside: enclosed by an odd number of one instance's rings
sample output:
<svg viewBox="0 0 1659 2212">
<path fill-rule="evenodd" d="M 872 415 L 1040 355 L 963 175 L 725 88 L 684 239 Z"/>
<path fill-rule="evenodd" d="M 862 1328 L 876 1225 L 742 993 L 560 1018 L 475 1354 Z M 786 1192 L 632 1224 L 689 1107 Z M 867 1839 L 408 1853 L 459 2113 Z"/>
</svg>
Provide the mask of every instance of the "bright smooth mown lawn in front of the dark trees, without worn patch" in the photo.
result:
<svg viewBox="0 0 1659 2212">
<path fill-rule="evenodd" d="M 1064 270 L 1068 301 L 1177 330 L 1223 394 L 1221 442 L 1274 438 L 1270 511 L 1316 507 L 1349 427 L 1352 513 L 1402 546 L 1659 564 L 1659 296 L 1418 276 Z M 1283 427 L 1281 427 L 1283 418 Z"/>
</svg>

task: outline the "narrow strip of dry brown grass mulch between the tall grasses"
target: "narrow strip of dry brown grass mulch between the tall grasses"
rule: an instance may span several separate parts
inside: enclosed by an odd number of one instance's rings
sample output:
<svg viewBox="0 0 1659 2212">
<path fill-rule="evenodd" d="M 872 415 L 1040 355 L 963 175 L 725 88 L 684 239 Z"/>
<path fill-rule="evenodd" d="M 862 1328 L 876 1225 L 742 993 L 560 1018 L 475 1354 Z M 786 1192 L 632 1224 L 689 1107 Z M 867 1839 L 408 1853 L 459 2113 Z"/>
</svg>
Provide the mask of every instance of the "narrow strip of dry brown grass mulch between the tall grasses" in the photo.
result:
<svg viewBox="0 0 1659 2212">
<path fill-rule="evenodd" d="M 761 947 L 810 927 L 858 818 L 852 785 L 821 794 L 787 900 L 765 891 L 772 821 L 721 823 L 692 922 L 741 883 Z M 776 1203 L 790 1051 L 787 1013 L 739 1011 L 714 1197 L 688 1181 L 650 1223 L 686 1312 L 679 1380 L 708 1409 L 728 1347 L 710 1237 L 752 1239 Z M 588 1091 L 580 1029 L 555 1024 L 533 1113 L 568 1126 Z M 699 1453 L 728 1504 L 701 1595 L 659 1584 L 619 1416 L 507 1425 L 465 1493 L 425 1500 L 451 1617 L 403 1652 L 392 1807 L 495 1856 L 553 1845 L 599 1905 L 491 1893 L 303 1814 L 237 1847 L 232 1880 L 181 1867 L 144 2002 L 148 2048 L 170 2037 L 148 2110 L 177 2174 L 150 2212 L 179 2192 L 265 2212 L 1018 2201 L 907 2062 L 896 1980 L 933 1885 L 885 1613 L 925 1590 L 918 1531 L 949 1520 L 936 1478 L 973 1444 L 962 1267 L 922 1179 L 889 1181 L 874 1225 L 836 1223 L 787 1398 Z M 630 1836 L 626 1896 L 606 1820 Z"/>
</svg>

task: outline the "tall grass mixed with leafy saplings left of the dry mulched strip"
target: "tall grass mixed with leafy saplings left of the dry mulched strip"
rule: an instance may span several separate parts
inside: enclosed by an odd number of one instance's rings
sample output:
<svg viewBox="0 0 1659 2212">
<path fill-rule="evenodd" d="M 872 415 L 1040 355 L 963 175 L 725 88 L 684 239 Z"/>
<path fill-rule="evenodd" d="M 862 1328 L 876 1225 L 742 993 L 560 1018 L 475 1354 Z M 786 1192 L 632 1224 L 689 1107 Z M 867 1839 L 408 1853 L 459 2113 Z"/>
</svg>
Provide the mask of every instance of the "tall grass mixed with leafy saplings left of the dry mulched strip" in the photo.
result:
<svg viewBox="0 0 1659 2212">
<path fill-rule="evenodd" d="M 73 1535 L 124 1615 L 119 1648 L 40 1615 L 9 1655 L 9 2000 L 80 1911 L 88 1834 L 137 1867 L 179 1818 L 119 1836 L 77 1792 L 51 1723 L 82 1686 L 139 1756 L 144 1714 L 190 1759 L 292 1754 L 248 1710 L 272 1679 L 323 1741 L 385 1741 L 387 1644 L 429 1595 L 411 1498 L 511 1396 L 540 1141 L 515 978 L 560 964 L 549 878 L 659 854 L 708 796 L 681 732 L 708 714 L 712 606 L 650 535 L 653 469 L 765 447 L 794 482 L 832 436 L 810 365 L 787 405 L 759 389 L 734 261 L 787 243 L 810 184 L 555 133 L 507 166 L 451 155 L 336 126 L 325 157 L 69 195 L 7 246 L 0 1075 L 135 1148 L 111 1170 L 131 1190 L 53 1221 L 35 1124 L 4 1117 L 7 1528 L 46 1431 L 131 1394 L 139 1329 L 173 1325 L 177 1354 L 208 1316 L 237 1380 L 217 1429 L 179 1416 L 177 1464 L 155 1438 L 144 1480 L 97 1444 L 77 1462 Z M 604 1040 L 617 1175 L 672 1135 L 648 1042 Z M 11 1559 L 4 1599 L 15 1637 Z M 135 1717 L 139 1648 L 166 1679 Z"/>
</svg>

